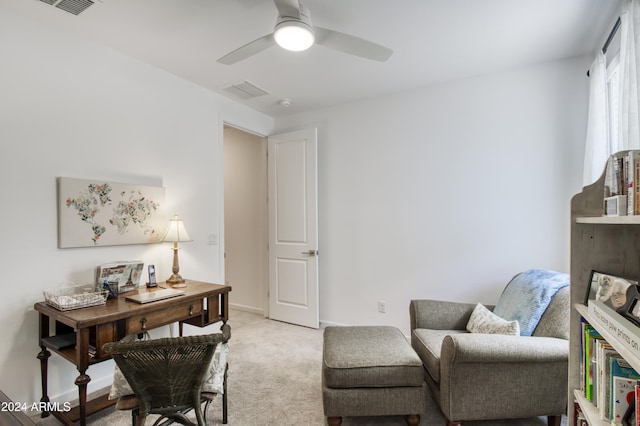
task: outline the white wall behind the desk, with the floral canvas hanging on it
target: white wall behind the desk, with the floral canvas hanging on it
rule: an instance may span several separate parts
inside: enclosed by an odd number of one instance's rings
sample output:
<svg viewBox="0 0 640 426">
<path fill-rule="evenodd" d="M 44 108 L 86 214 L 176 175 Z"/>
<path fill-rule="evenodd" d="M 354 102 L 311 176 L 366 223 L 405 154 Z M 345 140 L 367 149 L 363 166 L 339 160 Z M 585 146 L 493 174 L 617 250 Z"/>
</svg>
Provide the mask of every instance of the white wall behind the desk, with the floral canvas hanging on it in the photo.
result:
<svg viewBox="0 0 640 426">
<path fill-rule="evenodd" d="M 164 186 L 169 214 L 194 240 L 181 245 L 180 272 L 220 282 L 220 245 L 208 234 L 222 233 L 221 123 L 269 134 L 273 119 L 2 7 L 0 61 L 0 388 L 30 404 L 41 397 L 33 304 L 43 289 L 91 282 L 96 265 L 114 260 L 171 273 L 170 245 L 58 249 L 56 176 Z M 77 398 L 70 363 L 52 356 L 49 371 L 52 398 Z M 91 367 L 90 390 L 112 371 Z"/>
</svg>

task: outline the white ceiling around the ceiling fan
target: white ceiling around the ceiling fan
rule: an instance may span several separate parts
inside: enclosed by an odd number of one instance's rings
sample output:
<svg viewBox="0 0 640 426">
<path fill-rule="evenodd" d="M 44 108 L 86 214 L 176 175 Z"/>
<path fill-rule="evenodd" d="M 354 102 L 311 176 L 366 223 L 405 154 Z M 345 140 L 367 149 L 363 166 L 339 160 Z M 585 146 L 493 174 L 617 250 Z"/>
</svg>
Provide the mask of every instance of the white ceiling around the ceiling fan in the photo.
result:
<svg viewBox="0 0 640 426">
<path fill-rule="evenodd" d="M 95 0 L 74 16 L 38 0 L 0 0 L 225 96 L 248 80 L 268 95 L 243 101 L 277 117 L 443 81 L 595 52 L 620 0 L 306 0 L 313 24 L 394 50 L 384 63 L 313 46 L 272 47 L 234 65 L 217 59 L 271 33 L 272 0 Z M 282 98 L 291 105 L 278 105 Z"/>
</svg>

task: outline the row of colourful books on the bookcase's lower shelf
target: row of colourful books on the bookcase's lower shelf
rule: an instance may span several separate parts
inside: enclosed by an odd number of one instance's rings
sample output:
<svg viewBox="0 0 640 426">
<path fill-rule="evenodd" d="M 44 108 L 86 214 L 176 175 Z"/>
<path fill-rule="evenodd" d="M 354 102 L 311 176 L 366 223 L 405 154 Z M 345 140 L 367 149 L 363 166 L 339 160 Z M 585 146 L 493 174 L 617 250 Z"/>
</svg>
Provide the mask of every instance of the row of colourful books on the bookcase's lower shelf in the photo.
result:
<svg viewBox="0 0 640 426">
<path fill-rule="evenodd" d="M 640 374 L 620 356 L 600 333 L 582 323 L 581 381 L 585 398 L 597 407 L 600 418 L 623 425 L 640 420 Z"/>
</svg>

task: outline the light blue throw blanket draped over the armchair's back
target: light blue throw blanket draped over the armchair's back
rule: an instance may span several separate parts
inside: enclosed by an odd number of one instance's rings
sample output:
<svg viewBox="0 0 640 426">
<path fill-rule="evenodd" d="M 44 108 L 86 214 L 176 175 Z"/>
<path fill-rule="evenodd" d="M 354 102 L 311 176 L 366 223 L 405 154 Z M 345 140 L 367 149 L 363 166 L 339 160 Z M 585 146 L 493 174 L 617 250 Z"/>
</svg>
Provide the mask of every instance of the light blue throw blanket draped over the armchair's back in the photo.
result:
<svg viewBox="0 0 640 426">
<path fill-rule="evenodd" d="M 493 313 L 517 320 L 520 335 L 531 336 L 556 292 L 569 285 L 569 275 L 530 269 L 516 275 L 498 299 Z"/>
</svg>

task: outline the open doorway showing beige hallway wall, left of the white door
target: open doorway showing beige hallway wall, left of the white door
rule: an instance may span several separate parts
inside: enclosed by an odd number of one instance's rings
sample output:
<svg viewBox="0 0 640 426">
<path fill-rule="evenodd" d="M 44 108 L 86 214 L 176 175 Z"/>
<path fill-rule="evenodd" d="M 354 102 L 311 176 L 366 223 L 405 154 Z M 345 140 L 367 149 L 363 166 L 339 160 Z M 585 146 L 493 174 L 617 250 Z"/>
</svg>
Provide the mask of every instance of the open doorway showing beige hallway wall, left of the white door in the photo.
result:
<svg viewBox="0 0 640 426">
<path fill-rule="evenodd" d="M 267 139 L 224 126 L 224 262 L 231 306 L 267 317 Z"/>
</svg>

